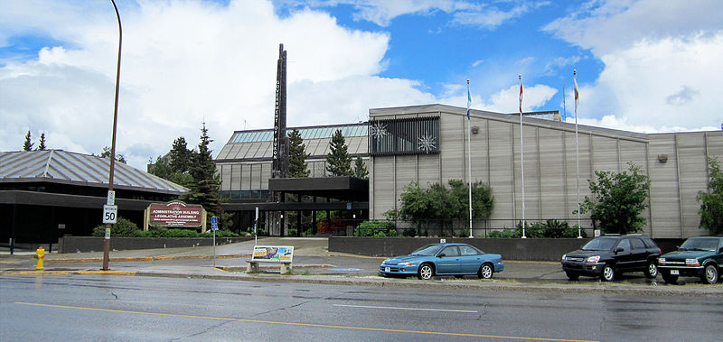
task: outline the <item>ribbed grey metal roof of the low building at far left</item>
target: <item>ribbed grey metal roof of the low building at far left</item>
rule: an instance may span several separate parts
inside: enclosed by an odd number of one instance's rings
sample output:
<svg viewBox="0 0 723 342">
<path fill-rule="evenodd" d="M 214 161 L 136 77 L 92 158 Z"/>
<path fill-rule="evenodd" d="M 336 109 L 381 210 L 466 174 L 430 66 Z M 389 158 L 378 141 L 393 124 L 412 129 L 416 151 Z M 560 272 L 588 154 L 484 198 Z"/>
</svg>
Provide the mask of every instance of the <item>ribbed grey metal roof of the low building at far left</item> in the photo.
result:
<svg viewBox="0 0 723 342">
<path fill-rule="evenodd" d="M 110 160 L 62 150 L 0 153 L 0 182 L 49 181 L 108 187 Z M 189 190 L 150 173 L 117 162 L 113 187 L 180 195 Z"/>
</svg>

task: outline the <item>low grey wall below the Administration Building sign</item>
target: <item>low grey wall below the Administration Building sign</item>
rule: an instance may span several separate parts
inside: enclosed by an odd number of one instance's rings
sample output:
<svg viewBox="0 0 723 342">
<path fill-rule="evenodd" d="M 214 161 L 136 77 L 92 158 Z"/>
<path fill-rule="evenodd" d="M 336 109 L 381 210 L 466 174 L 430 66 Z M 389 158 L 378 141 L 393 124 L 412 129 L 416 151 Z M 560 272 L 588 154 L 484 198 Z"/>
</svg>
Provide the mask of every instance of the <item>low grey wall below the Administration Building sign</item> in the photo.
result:
<svg viewBox="0 0 723 342">
<path fill-rule="evenodd" d="M 103 250 L 103 237 L 65 236 L 58 239 L 60 253 L 100 252 Z M 216 245 L 248 241 L 253 237 L 216 237 Z M 192 247 L 213 245 L 210 237 L 113 237 L 110 249 L 116 251 L 132 249 Z"/>
</svg>

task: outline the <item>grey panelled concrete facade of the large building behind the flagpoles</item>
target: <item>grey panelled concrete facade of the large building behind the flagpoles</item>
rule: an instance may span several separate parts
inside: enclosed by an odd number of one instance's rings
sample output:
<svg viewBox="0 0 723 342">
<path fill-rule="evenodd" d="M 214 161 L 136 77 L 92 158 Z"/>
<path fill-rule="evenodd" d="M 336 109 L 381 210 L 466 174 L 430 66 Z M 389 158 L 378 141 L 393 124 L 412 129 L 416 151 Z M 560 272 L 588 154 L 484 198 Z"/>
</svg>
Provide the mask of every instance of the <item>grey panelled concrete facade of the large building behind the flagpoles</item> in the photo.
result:
<svg viewBox="0 0 723 342">
<path fill-rule="evenodd" d="M 437 109 L 437 113 L 433 110 Z M 418 113 L 414 113 L 418 111 Z M 494 209 L 488 228 L 515 225 L 522 217 L 519 116 L 487 115 L 473 111 L 471 135 L 472 180 L 493 189 Z M 375 156 L 371 160 L 370 217 L 399 206 L 404 186 L 416 180 L 420 187 L 447 180 L 467 180 L 465 108 L 411 106 L 383 108 L 373 119 L 440 116 L 439 154 Z M 634 162 L 651 180 L 650 208 L 643 212 L 643 233 L 653 238 L 699 236 L 700 203 L 696 195 L 707 189 L 707 157 L 723 161 L 723 132 L 636 134 L 600 127 L 580 126 L 579 200 L 590 195 L 587 180 L 595 171 L 621 172 Z M 577 152 L 575 125 L 525 118 L 525 217 L 577 222 Z M 659 162 L 665 154 L 667 162 Z M 584 216 L 583 226 L 589 227 Z M 474 236 L 480 233 L 474 231 Z"/>
</svg>

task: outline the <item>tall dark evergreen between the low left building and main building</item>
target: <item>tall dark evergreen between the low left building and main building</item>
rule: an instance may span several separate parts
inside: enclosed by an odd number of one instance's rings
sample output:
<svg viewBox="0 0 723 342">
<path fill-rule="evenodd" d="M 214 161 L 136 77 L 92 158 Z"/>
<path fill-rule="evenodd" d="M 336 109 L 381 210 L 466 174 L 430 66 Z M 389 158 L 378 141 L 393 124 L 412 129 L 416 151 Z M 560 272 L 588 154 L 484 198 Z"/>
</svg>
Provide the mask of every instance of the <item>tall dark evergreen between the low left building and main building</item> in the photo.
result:
<svg viewBox="0 0 723 342">
<path fill-rule="evenodd" d="M 193 154 L 189 173 L 193 177 L 191 192 L 186 195 L 189 203 L 200 204 L 211 215 L 221 216 L 221 178 L 216 173 L 216 163 L 211 157 L 209 144 L 213 141 L 208 135 L 209 130 L 203 123 L 201 130 L 201 143 L 198 144 L 198 153 Z M 209 215 L 209 217 L 211 217 Z"/>
</svg>

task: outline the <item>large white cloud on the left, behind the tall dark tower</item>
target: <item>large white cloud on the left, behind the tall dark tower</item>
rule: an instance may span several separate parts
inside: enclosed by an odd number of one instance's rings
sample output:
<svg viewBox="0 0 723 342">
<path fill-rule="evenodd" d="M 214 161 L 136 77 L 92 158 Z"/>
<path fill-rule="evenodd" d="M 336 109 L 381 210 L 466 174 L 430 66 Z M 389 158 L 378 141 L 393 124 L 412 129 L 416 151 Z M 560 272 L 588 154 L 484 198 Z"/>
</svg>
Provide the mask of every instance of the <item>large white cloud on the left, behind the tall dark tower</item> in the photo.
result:
<svg viewBox="0 0 723 342">
<path fill-rule="evenodd" d="M 14 22 L 25 27 L 5 38 L 53 32 L 61 44 L 0 67 L 0 150 L 20 149 L 31 130 L 33 140 L 45 132 L 51 148 L 99 153 L 110 145 L 115 95 L 112 6 L 54 3 L 57 13 L 78 21 L 67 25 L 29 22 L 42 18 L 23 1 L 14 4 Z M 385 67 L 387 33 L 350 31 L 329 14 L 305 10 L 280 19 L 270 3 L 257 1 L 119 5 L 124 34 L 117 152 L 139 169 L 178 136 L 195 146 L 202 121 L 216 153 L 245 124 L 270 127 L 279 42 L 288 51 L 289 125 L 352 122 L 366 119 L 371 107 L 435 102 L 414 81 L 374 76 Z M 95 20 L 100 12 L 107 18 Z"/>
</svg>

